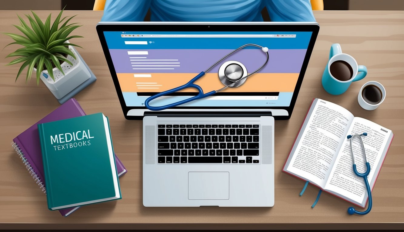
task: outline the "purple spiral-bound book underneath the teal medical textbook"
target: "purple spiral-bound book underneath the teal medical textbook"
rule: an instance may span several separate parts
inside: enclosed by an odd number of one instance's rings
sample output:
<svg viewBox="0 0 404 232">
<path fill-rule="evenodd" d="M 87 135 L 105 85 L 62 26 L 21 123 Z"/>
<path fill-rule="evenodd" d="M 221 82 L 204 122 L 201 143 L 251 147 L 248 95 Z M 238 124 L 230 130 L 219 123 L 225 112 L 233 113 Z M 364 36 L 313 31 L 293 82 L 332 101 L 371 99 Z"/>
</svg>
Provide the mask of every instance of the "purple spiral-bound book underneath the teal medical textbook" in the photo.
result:
<svg viewBox="0 0 404 232">
<path fill-rule="evenodd" d="M 34 181 L 38 184 L 40 189 L 46 193 L 45 178 L 44 178 L 44 167 L 42 164 L 42 153 L 41 145 L 39 141 L 38 134 L 38 124 L 45 122 L 53 122 L 58 120 L 63 120 L 67 118 L 74 118 L 79 116 L 84 116 L 84 110 L 78 104 L 77 100 L 74 98 L 69 99 L 63 105 L 59 106 L 56 110 L 46 115 L 44 118 L 39 120 L 26 131 L 15 137 L 13 139 L 13 148 L 17 151 L 17 154 L 23 161 L 23 164 L 27 168 L 29 174 L 31 174 Z M 118 171 L 118 176 L 122 176 L 126 173 L 126 169 L 122 162 L 118 159 L 115 154 L 116 170 Z M 67 216 L 79 207 L 72 207 L 68 209 L 61 209 L 59 212 L 63 216 Z"/>
</svg>

